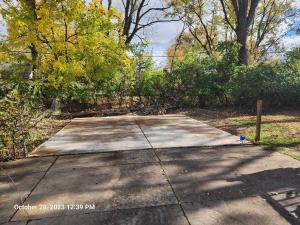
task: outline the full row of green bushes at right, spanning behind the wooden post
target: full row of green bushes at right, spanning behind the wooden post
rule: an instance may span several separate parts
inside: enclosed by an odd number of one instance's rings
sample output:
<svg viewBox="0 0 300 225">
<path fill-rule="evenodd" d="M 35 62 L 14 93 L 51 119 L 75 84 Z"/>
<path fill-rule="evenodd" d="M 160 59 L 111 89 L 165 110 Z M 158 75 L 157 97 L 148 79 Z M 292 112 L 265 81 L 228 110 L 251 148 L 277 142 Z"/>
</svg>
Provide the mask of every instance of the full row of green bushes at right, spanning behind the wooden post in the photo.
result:
<svg viewBox="0 0 300 225">
<path fill-rule="evenodd" d="M 285 61 L 238 65 L 237 48 L 218 46 L 220 57 L 188 57 L 166 77 L 166 93 L 176 106 L 228 105 L 255 107 L 263 99 L 271 107 L 300 103 L 300 48 Z"/>
</svg>

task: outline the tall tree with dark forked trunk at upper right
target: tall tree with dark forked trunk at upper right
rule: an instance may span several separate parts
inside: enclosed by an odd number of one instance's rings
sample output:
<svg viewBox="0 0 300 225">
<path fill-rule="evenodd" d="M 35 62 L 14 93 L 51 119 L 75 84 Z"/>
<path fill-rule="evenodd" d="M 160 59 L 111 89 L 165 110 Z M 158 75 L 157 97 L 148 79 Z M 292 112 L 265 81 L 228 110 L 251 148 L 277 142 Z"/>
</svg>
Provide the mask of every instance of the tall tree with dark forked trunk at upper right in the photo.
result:
<svg viewBox="0 0 300 225">
<path fill-rule="evenodd" d="M 248 64 L 250 50 L 257 52 L 274 47 L 282 37 L 281 25 L 295 16 L 291 0 L 220 0 L 224 18 L 240 44 L 239 61 Z"/>
</svg>

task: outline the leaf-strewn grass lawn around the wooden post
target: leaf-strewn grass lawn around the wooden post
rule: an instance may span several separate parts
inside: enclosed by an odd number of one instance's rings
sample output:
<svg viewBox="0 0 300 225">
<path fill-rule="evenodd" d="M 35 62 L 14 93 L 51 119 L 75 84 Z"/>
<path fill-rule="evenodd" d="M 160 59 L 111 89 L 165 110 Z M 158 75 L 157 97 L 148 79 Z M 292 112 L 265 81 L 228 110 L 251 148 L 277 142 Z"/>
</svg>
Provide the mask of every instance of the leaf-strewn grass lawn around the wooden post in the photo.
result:
<svg viewBox="0 0 300 225">
<path fill-rule="evenodd" d="M 245 115 L 235 109 L 197 110 L 193 118 L 234 135 L 254 141 L 256 116 Z M 262 116 L 261 141 L 266 150 L 279 151 L 300 160 L 300 111 L 280 111 Z"/>
</svg>

